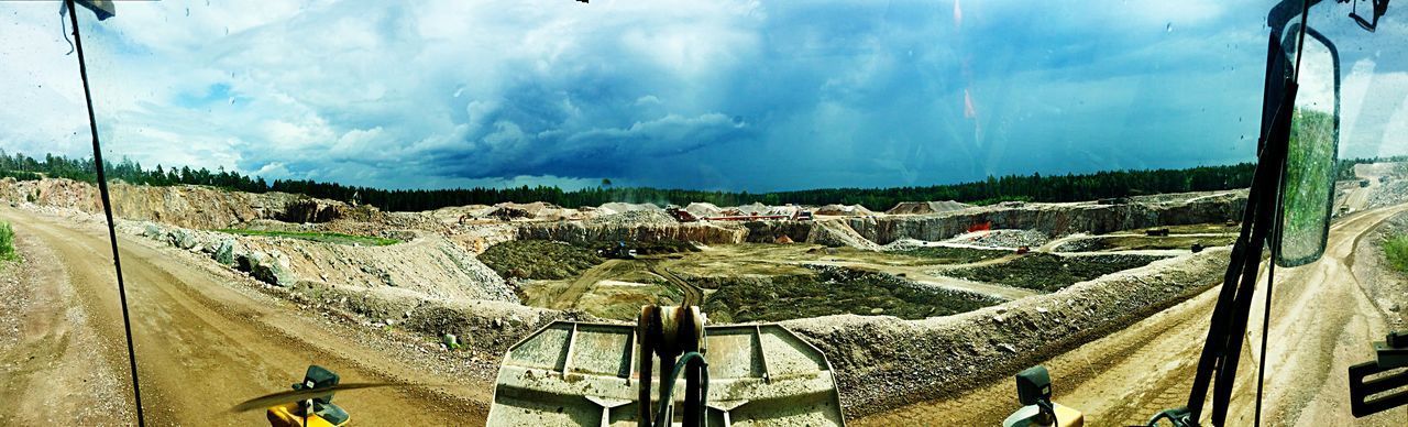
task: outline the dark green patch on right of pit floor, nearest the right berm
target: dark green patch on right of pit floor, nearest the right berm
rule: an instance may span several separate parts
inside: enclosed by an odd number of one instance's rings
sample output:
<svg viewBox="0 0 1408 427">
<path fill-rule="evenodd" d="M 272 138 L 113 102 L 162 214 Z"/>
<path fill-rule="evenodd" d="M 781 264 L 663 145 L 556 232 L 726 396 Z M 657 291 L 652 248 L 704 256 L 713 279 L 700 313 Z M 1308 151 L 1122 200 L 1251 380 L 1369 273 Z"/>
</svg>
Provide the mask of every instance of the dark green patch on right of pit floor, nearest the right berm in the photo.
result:
<svg viewBox="0 0 1408 427">
<path fill-rule="evenodd" d="M 963 268 L 945 275 L 969 280 L 1002 283 L 1043 292 L 1090 280 L 1112 272 L 1145 266 L 1163 256 L 1149 255 L 1088 255 L 1060 256 L 1052 254 L 1028 254 L 1007 264 Z"/>
</svg>

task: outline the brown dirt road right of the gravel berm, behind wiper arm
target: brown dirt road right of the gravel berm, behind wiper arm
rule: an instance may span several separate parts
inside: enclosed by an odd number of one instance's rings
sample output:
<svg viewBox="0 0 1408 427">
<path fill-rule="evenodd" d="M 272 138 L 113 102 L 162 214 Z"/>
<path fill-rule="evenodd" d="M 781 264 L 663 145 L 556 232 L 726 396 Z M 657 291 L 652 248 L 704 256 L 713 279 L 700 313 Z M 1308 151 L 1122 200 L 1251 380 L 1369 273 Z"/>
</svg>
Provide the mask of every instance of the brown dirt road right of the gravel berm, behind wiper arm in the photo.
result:
<svg viewBox="0 0 1408 427">
<path fill-rule="evenodd" d="M 1346 369 L 1371 358 L 1370 341 L 1387 333 L 1384 316 L 1352 271 L 1362 235 L 1408 204 L 1363 211 L 1332 225 L 1325 256 L 1311 265 L 1277 269 L 1273 299 L 1263 423 L 1267 426 L 1404 426 L 1398 409 L 1362 420 L 1349 414 Z M 1263 272 L 1253 307 L 1263 307 Z M 1146 423 L 1181 406 L 1207 337 L 1217 287 L 1129 328 L 1042 362 L 1052 372 L 1055 400 L 1086 413 L 1088 426 Z M 1260 310 L 1253 310 L 1246 352 L 1228 417 L 1250 426 L 1256 393 Z M 1015 373 L 1015 372 L 1014 372 Z M 997 426 L 1017 410 L 1010 379 L 855 420 L 853 426 L 898 426 L 943 420 L 950 426 Z M 1207 411 L 1204 411 L 1207 414 Z"/>
</svg>

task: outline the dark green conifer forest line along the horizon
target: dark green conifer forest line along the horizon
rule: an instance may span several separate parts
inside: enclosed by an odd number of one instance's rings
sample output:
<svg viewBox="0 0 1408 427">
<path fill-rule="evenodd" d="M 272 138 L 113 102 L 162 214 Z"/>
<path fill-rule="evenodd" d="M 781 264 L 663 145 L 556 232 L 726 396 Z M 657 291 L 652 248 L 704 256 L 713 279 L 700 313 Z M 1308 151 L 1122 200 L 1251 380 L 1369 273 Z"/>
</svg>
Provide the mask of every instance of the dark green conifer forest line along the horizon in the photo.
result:
<svg viewBox="0 0 1408 427">
<path fill-rule="evenodd" d="M 1376 159 L 1340 159 L 1336 165 L 1339 179 L 1353 179 L 1353 165 Z M 718 206 L 749 203 L 763 204 L 860 204 L 870 210 L 887 210 L 900 202 L 957 200 L 973 204 L 998 202 L 1079 202 L 1107 197 L 1125 197 L 1157 193 L 1207 192 L 1246 187 L 1252 182 L 1255 163 L 1226 166 L 1197 166 L 1188 169 L 1110 171 L 1095 173 L 1049 175 L 1007 175 L 988 176 L 986 180 L 908 186 L 888 189 L 815 189 L 793 192 L 705 192 L 683 189 L 614 187 L 610 180 L 601 186 L 563 190 L 555 186 L 520 186 L 505 189 L 441 189 L 441 190 L 386 190 L 362 186 L 315 180 L 280 180 L 272 183 L 259 176 L 228 172 L 224 168 L 211 172 L 206 168 L 156 168 L 145 169 L 141 163 L 122 159 L 117 163 L 104 162 L 107 178 L 128 183 L 149 186 L 203 185 L 227 190 L 251 193 L 284 192 L 307 194 L 320 199 L 359 202 L 387 211 L 434 210 L 448 206 L 494 204 L 501 202 L 546 202 L 563 207 L 600 206 L 610 202 L 689 204 L 708 202 Z M 92 158 L 69 159 L 45 155 L 35 159 L 23 154 L 0 151 L 0 178 L 37 180 L 41 178 L 68 178 L 96 182 L 97 172 Z"/>
</svg>

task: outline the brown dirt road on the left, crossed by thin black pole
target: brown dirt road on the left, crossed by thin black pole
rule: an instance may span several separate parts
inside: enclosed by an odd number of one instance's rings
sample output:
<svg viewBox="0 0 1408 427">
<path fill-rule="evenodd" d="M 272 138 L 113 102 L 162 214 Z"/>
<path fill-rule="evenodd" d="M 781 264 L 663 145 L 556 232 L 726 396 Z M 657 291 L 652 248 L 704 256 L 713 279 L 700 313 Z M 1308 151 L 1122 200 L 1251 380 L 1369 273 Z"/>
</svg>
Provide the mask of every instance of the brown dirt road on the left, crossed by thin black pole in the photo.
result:
<svg viewBox="0 0 1408 427">
<path fill-rule="evenodd" d="M 25 375 L 0 376 L 0 414 L 18 424 L 134 423 L 121 311 L 106 233 L 69 227 L 14 209 L 0 218 L 38 259 L 30 283 L 37 296 L 17 320 L 21 340 L 46 345 L 0 347 L 0 361 L 52 361 Z M 345 382 L 411 382 L 439 389 L 398 388 L 337 396 L 363 426 L 482 424 L 490 389 L 425 372 L 384 349 L 370 348 L 345 326 L 297 313 L 297 306 L 228 283 L 220 272 L 183 264 L 180 254 L 120 238 L 146 421 L 258 426 L 262 411 L 228 413 L 235 403 L 286 390 L 310 364 Z M 44 256 L 48 256 L 45 259 Z M 32 313 L 32 316 L 30 314 Z M 84 321 L 63 321 L 70 313 Z M 0 317 L 11 313 L 0 313 Z M 45 335 L 48 334 L 48 335 Z M 97 355 L 101 357 L 97 357 Z M 3 372 L 3 371 L 0 371 Z M 113 396 L 87 383 L 107 382 Z M 18 390 L 18 392 L 17 392 Z M 104 400 L 93 400 L 101 397 Z M 104 409 L 115 400 L 115 409 Z M 104 409 L 90 414 L 89 407 Z M 83 416 L 80 416 L 83 413 Z M 4 424 L 4 423 L 0 423 Z"/>
</svg>

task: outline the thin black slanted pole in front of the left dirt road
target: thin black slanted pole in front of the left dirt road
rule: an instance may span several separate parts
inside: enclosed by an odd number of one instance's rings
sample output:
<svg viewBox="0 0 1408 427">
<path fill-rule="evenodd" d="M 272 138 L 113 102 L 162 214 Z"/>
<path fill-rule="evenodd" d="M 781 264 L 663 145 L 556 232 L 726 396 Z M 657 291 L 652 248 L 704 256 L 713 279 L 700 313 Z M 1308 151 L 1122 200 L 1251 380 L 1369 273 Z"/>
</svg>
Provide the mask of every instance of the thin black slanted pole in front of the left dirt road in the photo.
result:
<svg viewBox="0 0 1408 427">
<path fill-rule="evenodd" d="M 146 426 L 142 416 L 142 390 L 137 380 L 137 352 L 132 349 L 132 320 L 127 313 L 127 285 L 122 283 L 122 259 L 117 255 L 117 227 L 113 223 L 113 202 L 107 196 L 107 178 L 103 176 L 103 148 L 97 142 L 97 120 L 93 117 L 93 94 L 87 83 L 87 63 L 83 61 L 83 38 L 79 37 L 79 10 L 73 0 L 63 0 L 69 7 L 69 23 L 73 24 L 73 45 L 79 52 L 79 76 L 83 79 L 83 100 L 87 101 L 89 132 L 93 134 L 93 162 L 97 163 L 97 190 L 103 196 L 103 214 L 107 216 L 107 237 L 113 244 L 113 268 L 117 269 L 117 297 L 122 303 L 122 328 L 127 333 L 127 362 L 132 372 L 132 400 L 137 404 L 137 426 Z"/>
</svg>

